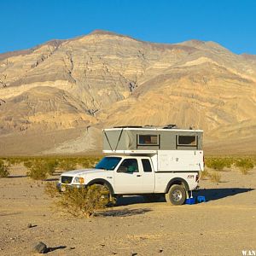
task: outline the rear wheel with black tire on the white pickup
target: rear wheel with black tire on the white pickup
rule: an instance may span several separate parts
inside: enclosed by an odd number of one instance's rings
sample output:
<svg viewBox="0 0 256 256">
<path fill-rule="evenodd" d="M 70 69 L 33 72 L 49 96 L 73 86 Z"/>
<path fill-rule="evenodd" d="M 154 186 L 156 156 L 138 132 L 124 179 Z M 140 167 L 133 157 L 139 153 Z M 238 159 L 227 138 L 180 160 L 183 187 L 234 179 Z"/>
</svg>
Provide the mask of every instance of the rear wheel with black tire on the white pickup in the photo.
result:
<svg viewBox="0 0 256 256">
<path fill-rule="evenodd" d="M 166 193 L 166 202 L 173 206 L 181 206 L 186 200 L 186 191 L 182 185 L 174 184 Z"/>
</svg>

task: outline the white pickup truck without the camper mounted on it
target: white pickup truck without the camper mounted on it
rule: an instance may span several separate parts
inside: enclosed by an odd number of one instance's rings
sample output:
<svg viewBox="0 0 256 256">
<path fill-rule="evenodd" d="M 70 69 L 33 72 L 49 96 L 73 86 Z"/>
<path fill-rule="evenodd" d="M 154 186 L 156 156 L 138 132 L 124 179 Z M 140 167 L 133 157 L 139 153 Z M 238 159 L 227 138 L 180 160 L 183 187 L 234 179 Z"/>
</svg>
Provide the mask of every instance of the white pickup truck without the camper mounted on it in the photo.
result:
<svg viewBox="0 0 256 256">
<path fill-rule="evenodd" d="M 197 164 L 202 163 L 202 154 Z M 182 205 L 189 190 L 197 189 L 199 172 L 156 172 L 156 155 L 110 155 L 104 157 L 95 169 L 63 172 L 58 186 L 80 188 L 99 184 L 108 189 L 109 198 L 120 195 L 143 195 L 146 201 L 158 201 L 166 195 L 172 205 Z"/>
</svg>

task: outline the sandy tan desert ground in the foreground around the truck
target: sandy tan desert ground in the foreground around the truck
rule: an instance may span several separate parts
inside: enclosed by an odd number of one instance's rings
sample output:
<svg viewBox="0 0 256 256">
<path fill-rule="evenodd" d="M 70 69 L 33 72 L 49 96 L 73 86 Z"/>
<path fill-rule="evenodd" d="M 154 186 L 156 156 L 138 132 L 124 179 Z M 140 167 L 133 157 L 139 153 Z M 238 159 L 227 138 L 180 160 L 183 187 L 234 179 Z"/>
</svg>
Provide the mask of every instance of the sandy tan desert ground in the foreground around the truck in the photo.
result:
<svg viewBox="0 0 256 256">
<path fill-rule="evenodd" d="M 172 207 L 125 197 L 95 218 L 52 212 L 45 182 L 13 166 L 0 179 L 0 255 L 30 255 L 44 241 L 49 255 L 242 255 L 256 250 L 256 169 L 221 172 L 222 182 L 201 181 L 207 203 Z M 55 177 L 57 178 L 57 177 Z M 28 228 L 27 224 L 32 224 Z"/>
</svg>

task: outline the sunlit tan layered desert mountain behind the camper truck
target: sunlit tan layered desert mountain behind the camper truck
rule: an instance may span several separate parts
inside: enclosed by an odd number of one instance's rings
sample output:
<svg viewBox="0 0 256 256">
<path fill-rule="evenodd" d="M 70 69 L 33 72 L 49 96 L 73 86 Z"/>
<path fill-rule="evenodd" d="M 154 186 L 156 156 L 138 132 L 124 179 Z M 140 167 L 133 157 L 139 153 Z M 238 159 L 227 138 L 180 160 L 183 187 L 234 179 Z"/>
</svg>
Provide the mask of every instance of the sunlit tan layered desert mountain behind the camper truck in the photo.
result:
<svg viewBox="0 0 256 256">
<path fill-rule="evenodd" d="M 96 31 L 0 55 L 0 154 L 100 151 L 103 127 L 166 124 L 203 129 L 212 154 L 253 153 L 255 113 L 256 57 L 213 42 Z"/>
</svg>

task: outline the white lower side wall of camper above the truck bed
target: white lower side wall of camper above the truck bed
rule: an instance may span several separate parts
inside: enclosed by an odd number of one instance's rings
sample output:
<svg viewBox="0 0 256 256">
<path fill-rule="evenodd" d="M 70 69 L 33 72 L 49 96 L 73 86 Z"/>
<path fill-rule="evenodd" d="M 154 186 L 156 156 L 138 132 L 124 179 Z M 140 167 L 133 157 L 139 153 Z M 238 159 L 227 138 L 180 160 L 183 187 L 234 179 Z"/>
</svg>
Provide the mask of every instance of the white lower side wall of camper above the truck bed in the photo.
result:
<svg viewBox="0 0 256 256">
<path fill-rule="evenodd" d="M 201 150 L 158 150 L 156 172 L 199 172 L 203 171 Z"/>
</svg>

